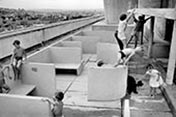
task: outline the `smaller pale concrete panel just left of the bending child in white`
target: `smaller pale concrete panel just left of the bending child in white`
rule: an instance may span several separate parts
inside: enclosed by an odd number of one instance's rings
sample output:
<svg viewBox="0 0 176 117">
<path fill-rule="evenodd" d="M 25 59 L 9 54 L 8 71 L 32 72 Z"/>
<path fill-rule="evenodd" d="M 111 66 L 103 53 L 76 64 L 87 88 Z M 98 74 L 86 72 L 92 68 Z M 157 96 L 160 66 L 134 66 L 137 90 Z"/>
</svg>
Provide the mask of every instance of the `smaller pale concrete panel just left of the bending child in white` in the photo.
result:
<svg viewBox="0 0 176 117">
<path fill-rule="evenodd" d="M 118 52 L 120 48 L 117 44 L 98 43 L 97 44 L 97 60 L 104 63 L 114 64 L 118 60 Z"/>
</svg>

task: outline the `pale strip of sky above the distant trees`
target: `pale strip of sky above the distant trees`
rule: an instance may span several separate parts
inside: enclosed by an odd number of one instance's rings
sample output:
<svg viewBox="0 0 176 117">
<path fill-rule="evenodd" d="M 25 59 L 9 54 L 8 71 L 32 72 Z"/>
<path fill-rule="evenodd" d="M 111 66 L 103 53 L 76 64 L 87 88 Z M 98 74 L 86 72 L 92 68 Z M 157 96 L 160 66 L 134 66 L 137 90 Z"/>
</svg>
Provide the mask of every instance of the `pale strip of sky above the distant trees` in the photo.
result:
<svg viewBox="0 0 176 117">
<path fill-rule="evenodd" d="M 102 9 L 103 0 L 0 0 L 0 7 L 24 9 Z"/>
</svg>

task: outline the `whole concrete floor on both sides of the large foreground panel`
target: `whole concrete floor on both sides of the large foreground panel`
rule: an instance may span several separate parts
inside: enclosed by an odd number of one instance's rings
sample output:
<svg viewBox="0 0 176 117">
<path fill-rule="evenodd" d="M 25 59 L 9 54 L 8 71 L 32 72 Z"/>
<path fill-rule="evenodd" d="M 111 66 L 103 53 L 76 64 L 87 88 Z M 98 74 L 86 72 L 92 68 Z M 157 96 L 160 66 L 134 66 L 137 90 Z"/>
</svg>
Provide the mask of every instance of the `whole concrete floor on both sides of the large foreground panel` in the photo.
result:
<svg viewBox="0 0 176 117">
<path fill-rule="evenodd" d="M 64 115 L 66 117 L 120 117 L 120 101 L 87 101 L 87 70 L 93 62 L 88 62 L 80 76 L 57 75 L 57 89 L 66 92 Z M 155 98 L 149 96 L 148 79 L 142 74 L 131 74 L 136 80 L 142 80 L 144 86 L 138 88 L 139 94 L 132 94 L 130 99 L 131 117 L 172 117 L 170 109 L 158 90 Z"/>
</svg>

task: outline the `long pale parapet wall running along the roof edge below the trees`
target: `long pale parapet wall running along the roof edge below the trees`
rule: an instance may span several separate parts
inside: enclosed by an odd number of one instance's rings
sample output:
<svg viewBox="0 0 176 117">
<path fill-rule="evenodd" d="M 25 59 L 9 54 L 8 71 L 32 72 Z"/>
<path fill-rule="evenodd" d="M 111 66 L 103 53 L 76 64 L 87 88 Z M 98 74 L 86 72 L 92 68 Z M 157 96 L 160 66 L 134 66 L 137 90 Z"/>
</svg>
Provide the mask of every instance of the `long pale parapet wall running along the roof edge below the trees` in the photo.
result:
<svg viewBox="0 0 176 117">
<path fill-rule="evenodd" d="M 102 17 L 94 16 L 90 18 L 65 21 L 61 23 L 50 24 L 43 27 L 34 27 L 24 29 L 22 31 L 15 31 L 8 34 L 2 34 L 0 35 L 0 59 L 11 54 L 13 49 L 12 42 L 15 39 L 21 41 L 22 47 L 30 48 L 34 45 L 41 43 L 42 41 L 50 40 L 54 37 L 57 37 L 59 35 L 81 28 L 85 25 L 102 19 Z"/>
</svg>

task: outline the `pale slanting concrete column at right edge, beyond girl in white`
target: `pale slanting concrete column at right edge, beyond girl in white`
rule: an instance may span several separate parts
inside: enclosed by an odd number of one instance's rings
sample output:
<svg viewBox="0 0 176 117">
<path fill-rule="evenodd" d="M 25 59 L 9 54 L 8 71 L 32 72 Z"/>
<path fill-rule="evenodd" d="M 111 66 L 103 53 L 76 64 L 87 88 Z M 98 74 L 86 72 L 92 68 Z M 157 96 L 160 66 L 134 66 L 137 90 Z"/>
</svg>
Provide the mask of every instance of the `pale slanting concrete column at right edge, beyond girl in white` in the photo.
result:
<svg viewBox="0 0 176 117">
<path fill-rule="evenodd" d="M 176 7 L 175 7 L 176 12 Z M 174 14 L 173 14 L 174 15 Z M 176 63 L 176 20 L 174 21 L 174 29 L 171 41 L 169 63 L 167 68 L 166 83 L 169 85 L 173 84 L 174 72 L 175 72 L 175 63 Z"/>
</svg>

